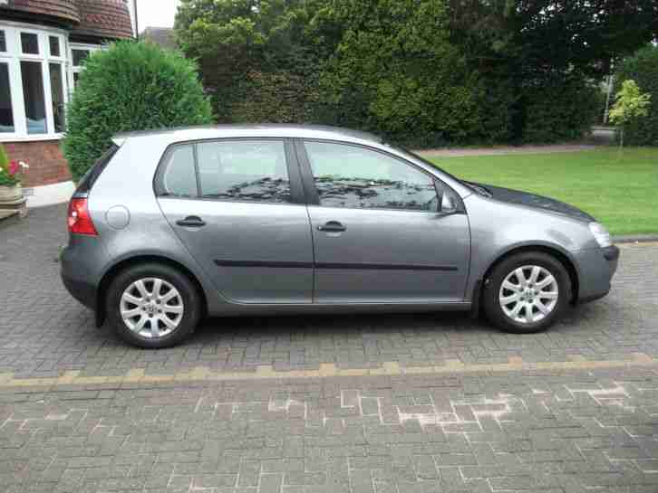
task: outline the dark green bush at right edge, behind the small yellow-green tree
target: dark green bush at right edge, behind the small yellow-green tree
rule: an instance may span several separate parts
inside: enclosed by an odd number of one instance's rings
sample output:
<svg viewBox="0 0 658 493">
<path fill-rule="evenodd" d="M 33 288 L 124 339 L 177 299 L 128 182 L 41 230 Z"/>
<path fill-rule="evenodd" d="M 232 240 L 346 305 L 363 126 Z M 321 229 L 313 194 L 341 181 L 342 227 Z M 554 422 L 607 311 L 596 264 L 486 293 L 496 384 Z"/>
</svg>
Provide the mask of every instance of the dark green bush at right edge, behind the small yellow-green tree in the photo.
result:
<svg viewBox="0 0 658 493">
<path fill-rule="evenodd" d="M 624 60 L 615 80 L 616 90 L 624 81 L 634 80 L 642 92 L 651 95 L 649 114 L 624 126 L 625 142 L 632 146 L 658 146 L 658 46 L 650 44 Z"/>
</svg>

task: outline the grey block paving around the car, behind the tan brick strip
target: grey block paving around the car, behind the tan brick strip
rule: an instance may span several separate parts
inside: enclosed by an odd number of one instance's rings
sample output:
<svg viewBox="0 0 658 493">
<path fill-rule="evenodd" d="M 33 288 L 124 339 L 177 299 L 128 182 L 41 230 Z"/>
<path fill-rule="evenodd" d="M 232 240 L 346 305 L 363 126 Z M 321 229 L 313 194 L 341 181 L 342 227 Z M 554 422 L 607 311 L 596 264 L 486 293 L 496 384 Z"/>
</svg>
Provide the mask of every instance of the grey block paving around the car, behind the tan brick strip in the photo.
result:
<svg viewBox="0 0 658 493">
<path fill-rule="evenodd" d="M 0 374 L 58 376 L 147 373 L 205 365 L 218 370 L 276 370 L 624 359 L 658 356 L 658 245 L 628 246 L 611 295 L 572 310 L 545 334 L 510 336 L 466 315 L 215 318 L 184 346 L 141 351 L 125 346 L 63 289 L 55 259 L 66 242 L 62 206 L 36 209 L 0 230 Z"/>
</svg>

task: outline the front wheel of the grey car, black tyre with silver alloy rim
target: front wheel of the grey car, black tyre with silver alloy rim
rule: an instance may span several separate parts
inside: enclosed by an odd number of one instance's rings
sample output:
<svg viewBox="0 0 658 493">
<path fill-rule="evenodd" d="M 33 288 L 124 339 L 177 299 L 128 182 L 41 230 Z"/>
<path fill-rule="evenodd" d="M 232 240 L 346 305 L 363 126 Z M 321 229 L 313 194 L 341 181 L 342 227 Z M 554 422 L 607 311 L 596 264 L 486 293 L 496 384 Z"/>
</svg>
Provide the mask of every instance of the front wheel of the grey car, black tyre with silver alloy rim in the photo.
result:
<svg viewBox="0 0 658 493">
<path fill-rule="evenodd" d="M 533 334 L 564 315 L 571 290 L 571 279 L 561 261 L 541 251 L 526 251 L 494 267 L 485 280 L 482 305 L 496 327 L 512 334 Z"/>
</svg>

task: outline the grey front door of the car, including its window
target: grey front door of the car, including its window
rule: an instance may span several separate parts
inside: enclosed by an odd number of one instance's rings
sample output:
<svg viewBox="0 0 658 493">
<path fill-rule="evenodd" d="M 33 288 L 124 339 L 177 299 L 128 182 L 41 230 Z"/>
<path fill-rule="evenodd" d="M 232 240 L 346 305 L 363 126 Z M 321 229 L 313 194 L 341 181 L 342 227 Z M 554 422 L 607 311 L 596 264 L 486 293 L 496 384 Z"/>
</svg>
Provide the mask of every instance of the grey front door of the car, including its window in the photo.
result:
<svg viewBox="0 0 658 493">
<path fill-rule="evenodd" d="M 315 303 L 463 300 L 469 221 L 463 208 L 439 212 L 446 185 L 371 147 L 307 140 L 297 154 L 310 202 Z"/>
</svg>

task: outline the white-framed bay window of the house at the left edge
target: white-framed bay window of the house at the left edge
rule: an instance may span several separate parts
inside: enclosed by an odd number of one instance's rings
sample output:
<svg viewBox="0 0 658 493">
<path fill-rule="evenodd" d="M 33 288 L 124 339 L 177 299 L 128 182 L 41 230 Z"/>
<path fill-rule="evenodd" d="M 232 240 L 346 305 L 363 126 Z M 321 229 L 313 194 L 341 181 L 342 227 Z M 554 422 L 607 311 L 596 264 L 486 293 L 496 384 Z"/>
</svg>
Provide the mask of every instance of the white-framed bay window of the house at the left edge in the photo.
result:
<svg viewBox="0 0 658 493">
<path fill-rule="evenodd" d="M 59 138 L 69 96 L 65 32 L 0 25 L 0 141 Z"/>
</svg>

